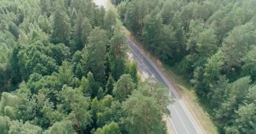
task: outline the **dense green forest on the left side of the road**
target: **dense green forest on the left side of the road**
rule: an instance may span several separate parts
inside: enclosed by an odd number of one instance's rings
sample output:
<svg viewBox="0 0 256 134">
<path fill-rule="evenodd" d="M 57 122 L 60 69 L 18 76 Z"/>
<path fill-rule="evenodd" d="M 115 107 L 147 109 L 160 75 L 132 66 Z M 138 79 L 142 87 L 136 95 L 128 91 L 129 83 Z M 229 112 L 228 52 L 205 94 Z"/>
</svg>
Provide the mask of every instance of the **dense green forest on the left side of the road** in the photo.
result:
<svg viewBox="0 0 256 134">
<path fill-rule="evenodd" d="M 0 0 L 0 134 L 167 134 L 120 28 L 91 0 Z"/>
</svg>

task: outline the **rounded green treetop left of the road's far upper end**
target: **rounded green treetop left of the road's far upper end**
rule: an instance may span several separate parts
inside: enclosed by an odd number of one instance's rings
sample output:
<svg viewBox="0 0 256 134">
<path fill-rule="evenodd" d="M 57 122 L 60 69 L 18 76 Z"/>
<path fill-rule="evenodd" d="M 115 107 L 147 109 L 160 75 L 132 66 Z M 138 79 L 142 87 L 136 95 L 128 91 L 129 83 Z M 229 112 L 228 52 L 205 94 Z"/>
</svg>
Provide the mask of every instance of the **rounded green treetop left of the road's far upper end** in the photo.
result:
<svg viewBox="0 0 256 134">
<path fill-rule="evenodd" d="M 109 39 L 114 34 L 115 25 L 116 25 L 116 14 L 114 10 L 109 9 L 107 10 L 107 13 L 104 16 L 104 29 L 107 31 L 107 35 Z"/>
</svg>

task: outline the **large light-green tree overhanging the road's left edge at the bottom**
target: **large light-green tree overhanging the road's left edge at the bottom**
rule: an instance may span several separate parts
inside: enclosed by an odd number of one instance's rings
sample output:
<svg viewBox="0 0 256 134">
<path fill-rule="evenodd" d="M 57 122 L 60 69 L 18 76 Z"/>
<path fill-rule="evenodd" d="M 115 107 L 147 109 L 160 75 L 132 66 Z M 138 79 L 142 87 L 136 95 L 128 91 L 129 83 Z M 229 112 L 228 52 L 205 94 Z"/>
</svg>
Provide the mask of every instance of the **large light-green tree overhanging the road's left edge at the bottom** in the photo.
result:
<svg viewBox="0 0 256 134">
<path fill-rule="evenodd" d="M 127 114 L 124 122 L 128 134 L 167 134 L 162 119 L 163 113 L 152 97 L 134 91 L 127 101 L 122 103 L 122 109 Z"/>
</svg>

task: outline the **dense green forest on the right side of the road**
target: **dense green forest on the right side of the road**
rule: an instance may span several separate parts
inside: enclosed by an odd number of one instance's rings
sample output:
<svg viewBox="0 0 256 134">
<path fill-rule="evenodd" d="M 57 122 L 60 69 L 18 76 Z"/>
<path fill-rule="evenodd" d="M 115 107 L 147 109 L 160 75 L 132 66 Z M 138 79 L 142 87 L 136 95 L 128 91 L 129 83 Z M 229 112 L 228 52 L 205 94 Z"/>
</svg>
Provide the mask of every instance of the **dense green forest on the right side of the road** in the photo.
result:
<svg viewBox="0 0 256 134">
<path fill-rule="evenodd" d="M 221 134 L 256 132 L 256 0 L 112 0 L 143 47 L 195 90 Z"/>
</svg>

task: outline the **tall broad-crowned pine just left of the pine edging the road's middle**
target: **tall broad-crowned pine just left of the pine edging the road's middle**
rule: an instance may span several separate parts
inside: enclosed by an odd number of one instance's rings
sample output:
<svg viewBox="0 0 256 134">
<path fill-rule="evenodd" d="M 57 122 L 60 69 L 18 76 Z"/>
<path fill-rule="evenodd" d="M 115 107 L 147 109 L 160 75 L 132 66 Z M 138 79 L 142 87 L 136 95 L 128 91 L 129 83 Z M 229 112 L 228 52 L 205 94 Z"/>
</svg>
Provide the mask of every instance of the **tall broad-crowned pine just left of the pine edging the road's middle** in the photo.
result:
<svg viewBox="0 0 256 134">
<path fill-rule="evenodd" d="M 96 81 L 105 82 L 105 52 L 107 33 L 96 27 L 88 38 L 88 45 L 83 49 L 82 65 L 85 70 L 92 72 Z"/>
</svg>

